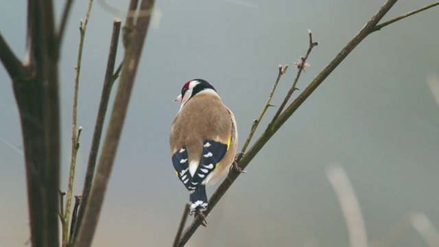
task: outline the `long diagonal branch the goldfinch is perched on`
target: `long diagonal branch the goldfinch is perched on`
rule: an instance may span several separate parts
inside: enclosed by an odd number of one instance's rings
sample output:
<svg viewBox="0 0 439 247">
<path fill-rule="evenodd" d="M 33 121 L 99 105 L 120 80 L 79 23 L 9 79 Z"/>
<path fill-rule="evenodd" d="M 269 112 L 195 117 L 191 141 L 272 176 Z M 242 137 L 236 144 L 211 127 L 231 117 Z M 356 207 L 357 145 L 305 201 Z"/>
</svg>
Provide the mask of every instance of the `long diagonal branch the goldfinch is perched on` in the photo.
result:
<svg viewBox="0 0 439 247">
<path fill-rule="evenodd" d="M 325 67 L 318 75 L 317 77 L 307 86 L 305 91 L 300 93 L 298 97 L 290 104 L 285 111 L 279 115 L 278 119 L 273 124 L 270 124 L 268 128 L 263 132 L 261 137 L 252 145 L 250 150 L 246 153 L 246 155 L 241 158 L 241 161 L 239 161 L 239 167 L 241 169 L 245 169 L 252 161 L 254 156 L 263 148 L 263 145 L 270 140 L 270 138 L 276 133 L 279 128 L 287 121 L 289 117 L 294 113 L 294 111 L 311 95 L 311 93 L 316 90 L 316 88 L 323 82 L 325 78 L 331 73 L 346 56 L 359 44 L 361 43 L 361 40 L 364 40 L 368 34 L 374 32 L 375 25 L 383 18 L 384 14 L 387 13 L 390 8 L 396 3 L 397 0 L 388 0 L 384 3 L 384 5 L 379 8 L 378 12 L 375 13 L 374 16 L 372 16 L 372 19 L 364 25 L 363 28 L 359 31 L 358 34 L 356 34 L 351 41 L 348 42 L 348 44 L 335 56 L 331 62 Z M 207 210 L 204 211 L 204 215 L 209 215 L 209 212 L 215 207 L 215 204 L 224 196 L 224 193 L 228 190 L 230 185 L 236 180 L 236 178 L 239 176 L 239 172 L 236 172 L 235 169 L 231 169 L 228 176 L 224 180 L 224 182 L 219 185 L 218 189 L 213 193 L 211 196 L 211 199 L 209 200 L 209 204 L 207 206 Z M 184 246 L 187 241 L 189 241 L 190 237 L 195 233 L 198 226 L 200 226 L 202 222 L 202 219 L 199 217 L 195 217 L 193 222 L 187 227 L 185 233 L 183 233 L 180 242 L 178 243 L 178 246 Z"/>
</svg>

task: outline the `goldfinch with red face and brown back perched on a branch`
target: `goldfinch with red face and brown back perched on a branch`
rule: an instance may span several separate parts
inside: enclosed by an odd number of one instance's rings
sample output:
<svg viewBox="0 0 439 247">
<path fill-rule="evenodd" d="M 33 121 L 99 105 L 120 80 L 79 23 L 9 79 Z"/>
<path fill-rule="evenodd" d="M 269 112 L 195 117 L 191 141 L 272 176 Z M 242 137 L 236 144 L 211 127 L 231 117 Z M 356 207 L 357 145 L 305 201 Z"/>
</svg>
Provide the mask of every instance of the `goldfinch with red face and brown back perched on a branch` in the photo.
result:
<svg viewBox="0 0 439 247">
<path fill-rule="evenodd" d="M 242 171 L 235 161 L 238 130 L 235 116 L 223 104 L 215 88 L 206 80 L 189 80 L 181 94 L 171 124 L 169 145 L 175 172 L 189 190 L 189 215 L 200 215 L 203 226 L 208 200 L 206 186 L 213 185 L 226 174 L 231 165 Z M 236 155 L 235 155 L 236 154 Z"/>
</svg>

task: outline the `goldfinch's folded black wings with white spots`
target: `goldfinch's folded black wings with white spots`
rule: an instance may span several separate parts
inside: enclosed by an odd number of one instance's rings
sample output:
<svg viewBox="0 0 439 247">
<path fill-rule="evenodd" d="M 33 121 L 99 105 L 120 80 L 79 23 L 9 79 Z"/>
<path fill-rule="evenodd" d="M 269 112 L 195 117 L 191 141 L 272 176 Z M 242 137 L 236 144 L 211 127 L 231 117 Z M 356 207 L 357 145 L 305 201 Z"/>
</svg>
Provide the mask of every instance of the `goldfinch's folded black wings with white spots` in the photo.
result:
<svg viewBox="0 0 439 247">
<path fill-rule="evenodd" d="M 198 168 L 195 170 L 193 177 L 189 173 L 189 160 L 186 146 L 183 145 L 180 150 L 174 153 L 172 156 L 174 169 L 176 169 L 178 178 L 180 178 L 189 191 L 196 189 L 196 187 L 206 179 L 206 176 L 217 167 L 218 163 L 221 162 L 226 154 L 229 145 L 213 140 L 204 141 L 200 163 L 198 163 Z"/>
</svg>

